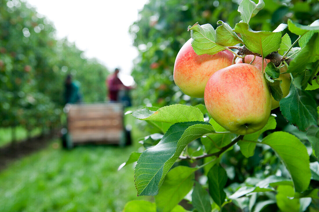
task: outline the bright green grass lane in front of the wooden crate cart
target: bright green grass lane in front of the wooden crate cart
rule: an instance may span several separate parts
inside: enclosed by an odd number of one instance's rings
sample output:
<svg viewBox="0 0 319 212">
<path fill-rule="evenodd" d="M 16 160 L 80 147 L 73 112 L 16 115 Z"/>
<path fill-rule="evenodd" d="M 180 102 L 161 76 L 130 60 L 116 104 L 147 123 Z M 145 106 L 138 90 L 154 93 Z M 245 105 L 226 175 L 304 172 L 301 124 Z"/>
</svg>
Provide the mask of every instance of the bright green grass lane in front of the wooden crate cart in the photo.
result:
<svg viewBox="0 0 319 212">
<path fill-rule="evenodd" d="M 61 149 L 59 140 L 0 172 L 0 211 L 122 211 L 136 199 L 133 164 L 117 171 L 143 136 L 133 126 L 133 145 Z M 58 147 L 57 147 L 58 145 Z M 55 148 L 54 148 L 55 147 Z M 56 148 L 57 147 L 57 148 Z"/>
</svg>

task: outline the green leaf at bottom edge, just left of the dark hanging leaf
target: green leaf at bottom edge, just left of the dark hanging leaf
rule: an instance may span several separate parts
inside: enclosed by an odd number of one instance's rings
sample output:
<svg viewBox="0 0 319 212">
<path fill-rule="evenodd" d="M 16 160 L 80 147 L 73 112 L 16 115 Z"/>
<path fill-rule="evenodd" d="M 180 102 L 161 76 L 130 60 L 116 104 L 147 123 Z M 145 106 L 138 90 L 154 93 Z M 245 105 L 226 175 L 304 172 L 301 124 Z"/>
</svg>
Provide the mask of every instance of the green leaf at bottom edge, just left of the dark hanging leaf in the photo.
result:
<svg viewBox="0 0 319 212">
<path fill-rule="evenodd" d="M 192 193 L 192 203 L 198 212 L 211 212 L 211 201 L 208 192 L 195 181 Z"/>
</svg>

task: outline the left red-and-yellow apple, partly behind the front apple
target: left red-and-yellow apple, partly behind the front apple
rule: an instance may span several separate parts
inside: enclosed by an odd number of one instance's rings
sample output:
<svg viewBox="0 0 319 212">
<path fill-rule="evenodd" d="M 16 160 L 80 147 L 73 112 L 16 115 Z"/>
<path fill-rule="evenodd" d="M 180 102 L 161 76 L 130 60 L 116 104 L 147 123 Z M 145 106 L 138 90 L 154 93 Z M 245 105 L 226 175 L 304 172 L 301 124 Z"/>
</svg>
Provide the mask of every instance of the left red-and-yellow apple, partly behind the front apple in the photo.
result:
<svg viewBox="0 0 319 212">
<path fill-rule="evenodd" d="M 191 97 L 203 98 L 211 74 L 232 64 L 234 55 L 228 50 L 214 55 L 197 55 L 189 39 L 180 49 L 174 64 L 174 82 Z"/>
</svg>

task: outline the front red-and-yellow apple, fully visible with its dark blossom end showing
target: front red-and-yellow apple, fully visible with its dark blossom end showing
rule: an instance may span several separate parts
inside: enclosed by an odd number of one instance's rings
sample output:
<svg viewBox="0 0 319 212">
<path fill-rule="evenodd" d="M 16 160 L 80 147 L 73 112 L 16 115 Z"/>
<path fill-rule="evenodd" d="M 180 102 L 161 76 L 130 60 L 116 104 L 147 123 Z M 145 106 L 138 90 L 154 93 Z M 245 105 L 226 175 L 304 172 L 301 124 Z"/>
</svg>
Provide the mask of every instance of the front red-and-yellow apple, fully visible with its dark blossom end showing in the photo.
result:
<svg viewBox="0 0 319 212">
<path fill-rule="evenodd" d="M 234 64 L 211 75 L 204 101 L 211 117 L 226 130 L 246 135 L 261 130 L 271 111 L 271 93 L 253 65 Z"/>
</svg>

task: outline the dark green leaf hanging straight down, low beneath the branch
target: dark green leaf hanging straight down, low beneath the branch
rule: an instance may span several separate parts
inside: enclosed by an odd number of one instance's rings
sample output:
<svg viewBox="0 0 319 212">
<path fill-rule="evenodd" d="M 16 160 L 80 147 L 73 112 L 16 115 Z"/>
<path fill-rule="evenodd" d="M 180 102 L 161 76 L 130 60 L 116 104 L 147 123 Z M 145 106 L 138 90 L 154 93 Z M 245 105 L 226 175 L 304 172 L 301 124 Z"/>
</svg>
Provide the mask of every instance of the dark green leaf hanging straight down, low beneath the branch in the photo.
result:
<svg viewBox="0 0 319 212">
<path fill-rule="evenodd" d="M 214 202 L 220 207 L 226 198 L 226 194 L 223 190 L 227 182 L 226 171 L 220 165 L 215 165 L 211 167 L 207 177 L 209 194 L 213 198 Z"/>
</svg>

